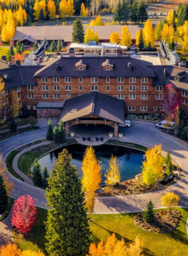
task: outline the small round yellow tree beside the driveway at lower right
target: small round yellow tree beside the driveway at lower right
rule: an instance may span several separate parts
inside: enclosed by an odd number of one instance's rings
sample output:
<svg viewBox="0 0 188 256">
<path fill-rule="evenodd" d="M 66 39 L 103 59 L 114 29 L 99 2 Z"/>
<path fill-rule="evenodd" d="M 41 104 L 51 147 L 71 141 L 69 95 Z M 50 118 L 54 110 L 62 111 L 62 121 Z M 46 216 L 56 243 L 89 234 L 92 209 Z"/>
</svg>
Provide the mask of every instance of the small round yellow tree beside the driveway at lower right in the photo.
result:
<svg viewBox="0 0 188 256">
<path fill-rule="evenodd" d="M 164 207 L 169 207 L 170 213 L 172 211 L 173 207 L 176 207 L 180 201 L 180 198 L 178 195 L 176 195 L 174 192 L 168 192 L 167 194 L 164 194 L 160 198 L 161 204 Z"/>
</svg>

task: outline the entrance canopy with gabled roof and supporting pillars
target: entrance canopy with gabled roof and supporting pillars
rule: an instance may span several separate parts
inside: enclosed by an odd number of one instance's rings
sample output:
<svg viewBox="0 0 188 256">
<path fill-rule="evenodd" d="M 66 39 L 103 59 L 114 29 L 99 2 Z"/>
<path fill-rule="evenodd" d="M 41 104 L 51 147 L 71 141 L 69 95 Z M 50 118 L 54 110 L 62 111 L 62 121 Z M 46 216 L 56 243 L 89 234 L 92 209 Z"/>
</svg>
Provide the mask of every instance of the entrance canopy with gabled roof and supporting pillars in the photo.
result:
<svg viewBox="0 0 188 256">
<path fill-rule="evenodd" d="M 114 135 L 118 136 L 118 124 L 125 121 L 125 103 L 99 92 L 89 92 L 66 100 L 60 120 L 65 123 L 66 135 L 73 125 L 95 124 L 113 127 Z"/>
</svg>

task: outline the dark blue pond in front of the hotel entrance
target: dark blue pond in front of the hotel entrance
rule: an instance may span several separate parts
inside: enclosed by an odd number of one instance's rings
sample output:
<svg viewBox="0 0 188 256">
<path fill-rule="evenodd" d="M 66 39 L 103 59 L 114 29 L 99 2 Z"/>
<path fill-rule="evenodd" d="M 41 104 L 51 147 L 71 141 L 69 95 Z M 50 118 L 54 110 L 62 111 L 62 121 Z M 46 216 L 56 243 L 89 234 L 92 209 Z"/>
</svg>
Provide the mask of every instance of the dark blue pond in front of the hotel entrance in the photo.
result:
<svg viewBox="0 0 188 256">
<path fill-rule="evenodd" d="M 82 146 L 80 144 L 75 144 L 71 146 L 64 147 L 68 150 L 69 154 L 72 154 L 73 160 L 72 164 L 77 166 L 79 170 L 79 174 L 82 174 L 81 166 L 83 155 L 85 154 L 86 146 Z M 109 168 L 109 160 L 111 155 L 116 156 L 119 164 L 119 170 L 121 174 L 121 181 L 125 181 L 128 179 L 134 179 L 136 174 L 139 174 L 142 170 L 142 162 L 144 161 L 144 152 L 140 152 L 138 150 L 132 150 L 130 148 L 125 148 L 121 146 L 112 146 L 112 145 L 102 145 L 102 146 L 94 146 L 95 156 L 99 159 L 99 162 L 102 166 L 101 176 L 102 176 L 102 184 L 104 184 L 104 174 L 106 170 Z M 42 170 L 46 166 L 48 171 L 50 172 L 52 164 L 54 164 L 56 158 L 58 157 L 58 153 L 62 152 L 63 148 L 59 148 L 46 154 L 38 161 L 41 165 Z"/>
</svg>

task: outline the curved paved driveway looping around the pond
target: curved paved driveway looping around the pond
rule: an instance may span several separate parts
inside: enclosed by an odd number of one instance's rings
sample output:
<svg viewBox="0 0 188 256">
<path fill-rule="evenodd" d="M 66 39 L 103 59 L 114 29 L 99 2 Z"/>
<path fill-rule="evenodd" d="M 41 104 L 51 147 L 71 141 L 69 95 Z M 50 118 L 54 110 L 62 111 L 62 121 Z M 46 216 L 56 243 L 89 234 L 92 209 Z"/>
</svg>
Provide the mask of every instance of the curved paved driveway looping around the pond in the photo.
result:
<svg viewBox="0 0 188 256">
<path fill-rule="evenodd" d="M 142 211 L 145 209 L 146 203 L 148 203 L 150 199 L 152 199 L 155 207 L 161 207 L 160 197 L 163 193 L 166 193 L 166 191 L 174 191 L 177 193 L 179 197 L 181 197 L 179 205 L 181 207 L 188 207 L 187 143 L 158 131 L 158 129 L 156 129 L 155 125 L 152 123 L 132 121 L 132 127 L 130 129 L 120 128 L 120 131 L 124 133 L 124 137 L 121 139 L 122 141 L 138 143 L 148 147 L 154 146 L 154 144 L 157 143 L 162 143 L 162 151 L 167 152 L 170 150 L 173 159 L 181 164 L 181 167 L 185 172 L 185 177 L 175 186 L 165 191 L 140 195 L 126 195 L 123 197 L 98 197 L 96 199 L 94 213 L 111 214 L 118 212 Z M 45 137 L 45 135 L 46 127 L 37 131 L 31 131 L 11 137 L 0 142 L 0 151 L 3 153 L 3 156 L 7 156 L 7 154 L 9 154 L 9 152 L 15 148 L 36 139 L 42 139 Z M 15 177 L 13 177 L 11 174 L 9 174 L 9 177 L 15 184 L 11 197 L 17 199 L 17 197 L 20 195 L 31 195 L 36 202 L 36 206 L 46 208 L 46 198 L 44 197 L 45 191 L 43 189 L 23 183 L 22 181 L 15 179 Z"/>
</svg>

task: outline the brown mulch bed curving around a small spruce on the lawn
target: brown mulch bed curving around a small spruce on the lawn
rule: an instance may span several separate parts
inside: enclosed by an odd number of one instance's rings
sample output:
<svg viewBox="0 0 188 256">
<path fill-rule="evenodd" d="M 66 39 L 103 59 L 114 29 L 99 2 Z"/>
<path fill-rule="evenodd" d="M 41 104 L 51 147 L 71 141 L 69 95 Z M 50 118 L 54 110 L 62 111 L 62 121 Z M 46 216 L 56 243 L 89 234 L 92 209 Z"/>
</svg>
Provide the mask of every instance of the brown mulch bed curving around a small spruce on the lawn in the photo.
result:
<svg viewBox="0 0 188 256">
<path fill-rule="evenodd" d="M 133 217 L 133 222 L 136 226 L 142 230 L 154 233 L 168 234 L 173 232 L 178 226 L 181 220 L 181 212 L 177 210 L 158 211 L 156 212 L 156 218 L 153 223 L 147 223 L 142 214 L 139 213 Z"/>
</svg>

